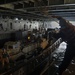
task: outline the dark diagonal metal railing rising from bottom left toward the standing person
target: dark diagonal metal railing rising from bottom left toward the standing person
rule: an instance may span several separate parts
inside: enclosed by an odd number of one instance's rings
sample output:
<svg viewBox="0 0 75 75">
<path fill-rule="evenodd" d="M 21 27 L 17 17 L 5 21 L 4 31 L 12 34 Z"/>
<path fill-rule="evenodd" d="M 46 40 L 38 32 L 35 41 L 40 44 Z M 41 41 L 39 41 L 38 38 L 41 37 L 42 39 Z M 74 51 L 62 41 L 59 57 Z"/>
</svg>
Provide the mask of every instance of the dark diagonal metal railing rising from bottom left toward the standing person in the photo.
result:
<svg viewBox="0 0 75 75">
<path fill-rule="evenodd" d="M 61 38 L 59 38 L 56 42 L 54 42 L 50 47 L 42 51 L 40 54 L 33 56 L 29 60 L 21 60 L 19 63 L 16 63 L 15 66 L 10 68 L 7 72 L 2 73 L 1 75 L 30 75 L 32 72 L 42 66 L 42 65 L 51 65 L 51 53 L 60 45 Z M 40 73 L 43 75 L 46 71 L 46 67 L 43 67 L 44 70 Z M 38 72 L 38 71 L 37 71 Z"/>
</svg>

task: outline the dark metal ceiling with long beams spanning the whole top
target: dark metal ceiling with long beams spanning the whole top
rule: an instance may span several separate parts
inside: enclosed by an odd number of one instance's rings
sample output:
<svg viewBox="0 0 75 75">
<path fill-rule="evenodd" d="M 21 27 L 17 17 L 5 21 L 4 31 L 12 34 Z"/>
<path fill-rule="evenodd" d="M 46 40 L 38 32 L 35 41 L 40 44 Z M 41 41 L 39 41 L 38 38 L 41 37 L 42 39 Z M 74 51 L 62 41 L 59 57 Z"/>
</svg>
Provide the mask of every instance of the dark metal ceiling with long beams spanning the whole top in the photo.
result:
<svg viewBox="0 0 75 75">
<path fill-rule="evenodd" d="M 0 0 L 1 6 L 6 4 L 14 6 L 14 9 L 0 7 L 0 14 L 34 19 L 48 19 L 53 15 L 62 17 L 75 16 L 75 4 L 63 4 L 63 0 L 59 2 L 61 5 L 49 5 L 49 3 L 50 0 Z"/>
</svg>

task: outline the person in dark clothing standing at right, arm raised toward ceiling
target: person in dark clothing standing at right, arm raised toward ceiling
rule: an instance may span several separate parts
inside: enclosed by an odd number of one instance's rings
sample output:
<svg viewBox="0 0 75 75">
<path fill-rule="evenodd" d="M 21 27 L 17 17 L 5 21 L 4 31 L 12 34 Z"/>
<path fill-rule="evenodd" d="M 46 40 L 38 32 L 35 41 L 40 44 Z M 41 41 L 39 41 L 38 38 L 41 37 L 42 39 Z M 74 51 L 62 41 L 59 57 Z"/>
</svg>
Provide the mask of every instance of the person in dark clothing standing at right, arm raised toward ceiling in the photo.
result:
<svg viewBox="0 0 75 75">
<path fill-rule="evenodd" d="M 61 37 L 62 41 L 65 41 L 67 43 L 67 49 L 65 51 L 64 59 L 59 66 L 57 74 L 62 75 L 62 73 L 71 63 L 73 57 L 75 57 L 75 26 L 61 17 L 56 18 L 59 20 L 59 24 L 61 26 L 60 32 L 57 34 L 57 36 Z"/>
</svg>

